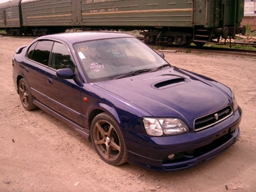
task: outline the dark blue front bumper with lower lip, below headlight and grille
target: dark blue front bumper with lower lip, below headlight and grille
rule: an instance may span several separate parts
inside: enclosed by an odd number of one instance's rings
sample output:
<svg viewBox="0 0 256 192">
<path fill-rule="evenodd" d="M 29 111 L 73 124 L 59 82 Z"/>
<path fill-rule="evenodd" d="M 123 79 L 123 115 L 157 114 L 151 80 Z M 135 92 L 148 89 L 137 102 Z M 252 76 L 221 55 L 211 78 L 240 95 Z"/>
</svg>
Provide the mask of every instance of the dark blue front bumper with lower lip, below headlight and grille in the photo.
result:
<svg viewBox="0 0 256 192">
<path fill-rule="evenodd" d="M 197 133 L 150 139 L 148 136 L 136 136 L 133 142 L 130 140 L 126 144 L 128 163 L 166 172 L 196 166 L 221 154 L 239 139 L 241 119 L 239 108 L 227 120 Z M 169 154 L 181 157 L 168 160 Z"/>
</svg>

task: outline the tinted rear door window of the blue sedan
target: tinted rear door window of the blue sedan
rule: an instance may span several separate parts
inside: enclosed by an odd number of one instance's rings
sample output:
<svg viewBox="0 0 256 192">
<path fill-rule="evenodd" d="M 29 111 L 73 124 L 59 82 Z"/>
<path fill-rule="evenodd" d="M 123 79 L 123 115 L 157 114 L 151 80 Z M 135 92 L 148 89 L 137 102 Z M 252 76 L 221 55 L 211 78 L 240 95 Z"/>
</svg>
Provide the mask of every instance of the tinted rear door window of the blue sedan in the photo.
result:
<svg viewBox="0 0 256 192">
<path fill-rule="evenodd" d="M 33 47 L 35 47 L 33 49 Z M 53 41 L 38 41 L 29 47 L 28 58 L 48 66 L 50 51 L 53 47 Z"/>
</svg>

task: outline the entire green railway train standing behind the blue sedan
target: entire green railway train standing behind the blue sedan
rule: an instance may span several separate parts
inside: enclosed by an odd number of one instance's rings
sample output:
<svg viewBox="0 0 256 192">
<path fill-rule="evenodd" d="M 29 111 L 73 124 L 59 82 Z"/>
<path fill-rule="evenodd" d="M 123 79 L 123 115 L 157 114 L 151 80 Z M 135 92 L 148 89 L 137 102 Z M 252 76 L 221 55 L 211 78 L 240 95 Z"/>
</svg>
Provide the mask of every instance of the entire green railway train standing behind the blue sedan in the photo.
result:
<svg viewBox="0 0 256 192">
<path fill-rule="evenodd" d="M 0 4 L 0 30 L 46 35 L 81 30 L 142 30 L 148 44 L 191 42 L 245 34 L 244 0 L 11 0 Z"/>
</svg>

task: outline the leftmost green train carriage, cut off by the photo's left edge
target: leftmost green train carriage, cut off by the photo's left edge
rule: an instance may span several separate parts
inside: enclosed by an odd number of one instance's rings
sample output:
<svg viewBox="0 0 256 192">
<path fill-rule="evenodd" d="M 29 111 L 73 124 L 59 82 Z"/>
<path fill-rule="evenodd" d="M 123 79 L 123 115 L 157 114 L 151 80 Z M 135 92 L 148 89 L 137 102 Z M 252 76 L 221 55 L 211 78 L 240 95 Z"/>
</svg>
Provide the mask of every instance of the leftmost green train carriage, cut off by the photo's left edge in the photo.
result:
<svg viewBox="0 0 256 192">
<path fill-rule="evenodd" d="M 0 29 L 20 35 L 22 26 L 20 2 L 20 0 L 13 0 L 0 4 Z"/>
</svg>

